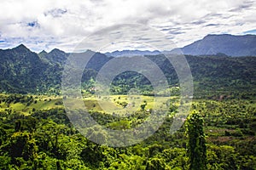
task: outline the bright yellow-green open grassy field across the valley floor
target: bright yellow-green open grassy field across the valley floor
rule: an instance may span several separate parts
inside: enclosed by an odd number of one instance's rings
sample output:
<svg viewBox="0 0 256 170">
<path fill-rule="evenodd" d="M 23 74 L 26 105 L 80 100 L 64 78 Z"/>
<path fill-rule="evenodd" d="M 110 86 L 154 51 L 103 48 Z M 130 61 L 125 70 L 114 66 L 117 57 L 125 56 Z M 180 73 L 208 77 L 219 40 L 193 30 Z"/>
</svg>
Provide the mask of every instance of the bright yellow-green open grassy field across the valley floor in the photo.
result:
<svg viewBox="0 0 256 170">
<path fill-rule="evenodd" d="M 2 98 L 9 98 L 8 94 L 1 94 Z M 1 102 L 0 111 L 12 110 L 23 113 L 25 115 L 35 110 L 49 110 L 54 108 L 62 108 L 63 102 L 60 96 L 55 95 L 32 95 L 30 102 Z M 171 98 L 172 105 L 179 105 L 178 97 Z M 168 97 L 154 97 L 143 95 L 110 95 L 108 97 L 90 96 L 84 98 L 84 105 L 88 111 L 99 111 L 108 114 L 116 113 L 122 114 L 127 111 L 149 111 L 166 109 L 166 102 L 170 100 Z M 145 107 L 142 109 L 142 105 Z M 75 107 L 75 102 L 74 102 Z"/>
</svg>

